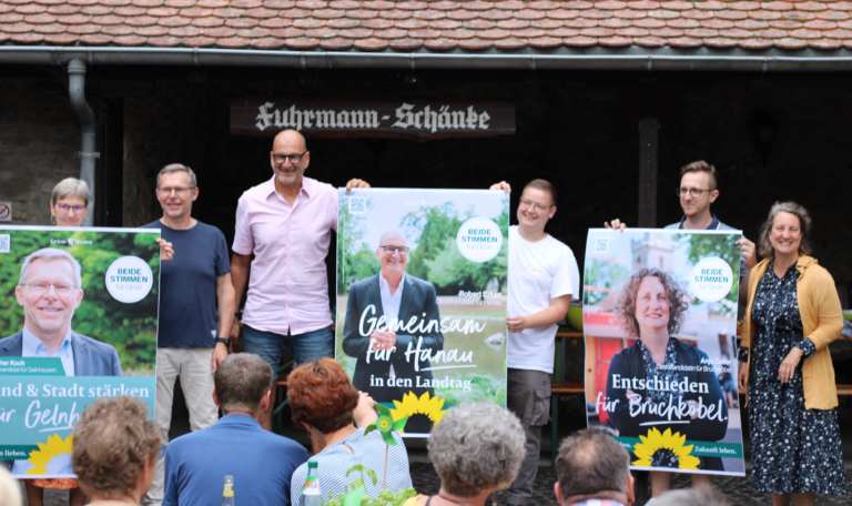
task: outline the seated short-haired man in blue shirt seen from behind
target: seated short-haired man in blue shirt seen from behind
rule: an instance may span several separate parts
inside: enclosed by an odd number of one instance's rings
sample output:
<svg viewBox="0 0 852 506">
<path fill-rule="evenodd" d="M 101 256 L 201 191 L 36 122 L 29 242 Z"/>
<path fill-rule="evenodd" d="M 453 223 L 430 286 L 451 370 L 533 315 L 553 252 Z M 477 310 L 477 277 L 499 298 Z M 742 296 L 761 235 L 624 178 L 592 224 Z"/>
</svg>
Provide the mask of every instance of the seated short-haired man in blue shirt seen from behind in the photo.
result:
<svg viewBox="0 0 852 506">
<path fill-rule="evenodd" d="M 213 399 L 225 416 L 169 445 L 163 505 L 221 504 L 226 475 L 234 477 L 236 504 L 290 505 L 291 476 L 307 452 L 261 427 L 272 368 L 257 355 L 234 353 L 219 364 L 213 384 Z"/>
</svg>

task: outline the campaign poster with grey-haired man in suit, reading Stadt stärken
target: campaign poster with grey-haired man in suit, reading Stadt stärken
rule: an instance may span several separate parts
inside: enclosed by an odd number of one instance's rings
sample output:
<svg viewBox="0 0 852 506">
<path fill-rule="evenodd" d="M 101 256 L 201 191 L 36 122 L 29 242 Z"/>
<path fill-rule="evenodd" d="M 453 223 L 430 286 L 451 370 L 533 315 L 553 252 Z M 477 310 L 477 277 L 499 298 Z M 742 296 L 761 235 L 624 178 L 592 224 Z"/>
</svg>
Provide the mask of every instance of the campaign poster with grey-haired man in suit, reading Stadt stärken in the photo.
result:
<svg viewBox="0 0 852 506">
<path fill-rule="evenodd" d="M 160 231 L 0 226 L 0 461 L 68 478 L 72 432 L 99 397 L 153 417 Z"/>
</svg>

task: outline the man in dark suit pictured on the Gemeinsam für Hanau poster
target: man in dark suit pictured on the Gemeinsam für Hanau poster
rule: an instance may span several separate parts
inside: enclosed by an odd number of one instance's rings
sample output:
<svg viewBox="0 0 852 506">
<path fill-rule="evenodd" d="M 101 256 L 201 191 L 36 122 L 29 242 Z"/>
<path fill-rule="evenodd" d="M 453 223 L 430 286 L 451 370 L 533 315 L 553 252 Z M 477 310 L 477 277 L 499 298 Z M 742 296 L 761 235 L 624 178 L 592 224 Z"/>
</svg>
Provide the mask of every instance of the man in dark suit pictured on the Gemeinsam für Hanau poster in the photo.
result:
<svg viewBox="0 0 852 506">
<path fill-rule="evenodd" d="M 379 403 L 402 402 L 408 392 L 435 395 L 423 385 L 433 380 L 432 371 L 424 371 L 432 366 L 427 354 L 444 350 L 437 292 L 405 273 L 409 253 L 402 231 L 385 232 L 376 247 L 378 274 L 349 286 L 343 351 L 358 360 L 352 384 Z M 406 354 L 409 350 L 420 352 Z M 406 426 L 410 433 L 429 428 Z"/>
</svg>

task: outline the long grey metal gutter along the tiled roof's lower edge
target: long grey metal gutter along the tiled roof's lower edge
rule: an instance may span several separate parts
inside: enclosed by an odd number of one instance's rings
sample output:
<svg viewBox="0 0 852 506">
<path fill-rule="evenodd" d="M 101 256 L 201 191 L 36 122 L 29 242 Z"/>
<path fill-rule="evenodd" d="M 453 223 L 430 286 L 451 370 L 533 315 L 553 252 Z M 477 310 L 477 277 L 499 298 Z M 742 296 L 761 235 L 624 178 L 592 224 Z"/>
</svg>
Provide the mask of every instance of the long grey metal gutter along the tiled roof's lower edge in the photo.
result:
<svg viewBox="0 0 852 506">
<path fill-rule="evenodd" d="M 500 69 L 621 71 L 850 71 L 852 50 L 558 48 L 507 52 L 286 51 L 219 48 L 0 45 L 0 63 L 65 65 L 275 67 L 296 69 Z"/>
</svg>

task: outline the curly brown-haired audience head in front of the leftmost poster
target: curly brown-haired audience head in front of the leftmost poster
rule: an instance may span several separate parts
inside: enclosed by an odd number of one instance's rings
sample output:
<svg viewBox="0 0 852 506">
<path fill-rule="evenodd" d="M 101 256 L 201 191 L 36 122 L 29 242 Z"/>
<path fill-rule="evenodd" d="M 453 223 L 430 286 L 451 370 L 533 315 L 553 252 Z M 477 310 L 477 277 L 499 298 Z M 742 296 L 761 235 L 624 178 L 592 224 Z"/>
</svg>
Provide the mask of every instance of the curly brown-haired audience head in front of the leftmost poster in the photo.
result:
<svg viewBox="0 0 852 506">
<path fill-rule="evenodd" d="M 128 396 L 100 398 L 83 412 L 73 436 L 71 463 L 90 504 L 139 504 L 162 447 L 145 404 Z"/>
</svg>

